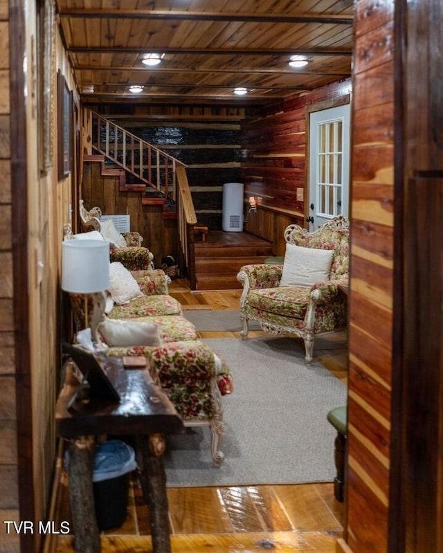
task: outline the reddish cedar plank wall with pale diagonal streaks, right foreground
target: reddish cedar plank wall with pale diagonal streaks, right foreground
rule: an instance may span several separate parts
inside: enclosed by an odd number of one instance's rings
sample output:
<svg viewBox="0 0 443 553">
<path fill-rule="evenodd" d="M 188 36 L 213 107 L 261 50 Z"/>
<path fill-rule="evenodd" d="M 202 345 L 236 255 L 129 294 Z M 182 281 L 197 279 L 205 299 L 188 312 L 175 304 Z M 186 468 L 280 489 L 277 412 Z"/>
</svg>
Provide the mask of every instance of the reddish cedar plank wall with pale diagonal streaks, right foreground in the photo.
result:
<svg viewBox="0 0 443 553">
<path fill-rule="evenodd" d="M 377 9 L 375 9 L 377 5 Z M 388 550 L 394 286 L 394 1 L 356 2 L 347 545 Z"/>
</svg>

